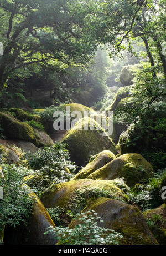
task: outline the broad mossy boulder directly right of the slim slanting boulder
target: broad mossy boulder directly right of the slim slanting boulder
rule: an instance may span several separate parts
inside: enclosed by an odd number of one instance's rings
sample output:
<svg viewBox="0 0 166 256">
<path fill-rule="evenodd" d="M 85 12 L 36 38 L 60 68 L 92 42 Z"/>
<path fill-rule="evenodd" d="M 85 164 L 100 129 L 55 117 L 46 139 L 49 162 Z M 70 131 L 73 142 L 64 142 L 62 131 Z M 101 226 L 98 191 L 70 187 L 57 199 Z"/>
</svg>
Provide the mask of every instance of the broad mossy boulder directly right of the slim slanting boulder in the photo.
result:
<svg viewBox="0 0 166 256">
<path fill-rule="evenodd" d="M 153 167 L 140 154 L 124 154 L 90 174 L 89 179 L 116 179 L 124 177 L 129 187 L 152 177 Z"/>
</svg>

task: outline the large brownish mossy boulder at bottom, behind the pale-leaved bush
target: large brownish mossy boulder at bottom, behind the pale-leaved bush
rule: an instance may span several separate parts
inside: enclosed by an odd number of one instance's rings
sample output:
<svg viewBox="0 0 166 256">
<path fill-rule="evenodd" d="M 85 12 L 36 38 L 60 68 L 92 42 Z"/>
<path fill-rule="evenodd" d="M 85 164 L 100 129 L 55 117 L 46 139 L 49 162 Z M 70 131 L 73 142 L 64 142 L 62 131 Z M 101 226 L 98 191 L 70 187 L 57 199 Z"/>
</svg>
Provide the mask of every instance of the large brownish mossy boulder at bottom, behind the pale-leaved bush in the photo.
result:
<svg viewBox="0 0 166 256">
<path fill-rule="evenodd" d="M 113 229 L 123 235 L 122 245 L 157 245 L 157 240 L 149 230 L 146 220 L 136 207 L 118 200 L 99 198 L 91 202 L 82 211 L 86 213 L 95 210 L 103 222 L 98 225 L 103 228 Z M 69 228 L 79 224 L 79 219 L 72 220 Z"/>
</svg>

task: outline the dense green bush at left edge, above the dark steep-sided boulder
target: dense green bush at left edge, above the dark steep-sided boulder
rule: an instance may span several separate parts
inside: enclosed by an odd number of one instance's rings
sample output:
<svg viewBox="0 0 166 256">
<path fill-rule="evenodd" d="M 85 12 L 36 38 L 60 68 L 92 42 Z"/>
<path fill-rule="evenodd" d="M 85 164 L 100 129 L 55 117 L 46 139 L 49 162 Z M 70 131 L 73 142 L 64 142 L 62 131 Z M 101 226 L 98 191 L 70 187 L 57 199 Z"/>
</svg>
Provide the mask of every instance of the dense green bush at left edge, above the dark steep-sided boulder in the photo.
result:
<svg viewBox="0 0 166 256">
<path fill-rule="evenodd" d="M 27 222 L 32 213 L 33 197 L 24 185 L 27 169 L 12 165 L 2 165 L 4 177 L 0 175 L 0 186 L 3 188 L 3 200 L 0 200 L 0 229 L 4 225 L 16 226 Z"/>
</svg>

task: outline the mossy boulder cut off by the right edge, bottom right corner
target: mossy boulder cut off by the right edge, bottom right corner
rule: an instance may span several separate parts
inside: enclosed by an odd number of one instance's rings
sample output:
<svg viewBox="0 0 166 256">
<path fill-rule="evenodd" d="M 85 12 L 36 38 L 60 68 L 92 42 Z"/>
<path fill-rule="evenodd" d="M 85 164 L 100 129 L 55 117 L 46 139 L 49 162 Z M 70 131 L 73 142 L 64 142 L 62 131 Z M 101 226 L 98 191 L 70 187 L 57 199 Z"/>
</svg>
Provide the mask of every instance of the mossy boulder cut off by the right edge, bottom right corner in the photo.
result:
<svg viewBox="0 0 166 256">
<path fill-rule="evenodd" d="M 166 205 L 143 213 L 149 228 L 160 245 L 166 245 Z"/>
</svg>

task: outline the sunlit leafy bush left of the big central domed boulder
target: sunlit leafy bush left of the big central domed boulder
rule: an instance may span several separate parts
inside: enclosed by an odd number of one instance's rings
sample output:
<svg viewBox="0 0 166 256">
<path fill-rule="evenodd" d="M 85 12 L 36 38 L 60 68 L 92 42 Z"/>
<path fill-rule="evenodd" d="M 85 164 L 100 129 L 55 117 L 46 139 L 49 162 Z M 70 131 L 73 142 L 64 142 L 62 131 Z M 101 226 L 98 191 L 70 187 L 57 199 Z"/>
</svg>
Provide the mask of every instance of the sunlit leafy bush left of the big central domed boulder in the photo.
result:
<svg viewBox="0 0 166 256">
<path fill-rule="evenodd" d="M 71 178 L 70 172 L 75 172 L 76 165 L 72 163 L 65 144 L 57 143 L 40 149 L 35 153 L 27 152 L 22 158 L 23 164 L 34 170 L 32 179 L 27 179 L 31 187 L 38 187 L 39 191 L 52 184 L 63 183 Z"/>
</svg>

